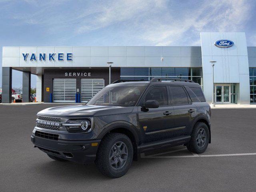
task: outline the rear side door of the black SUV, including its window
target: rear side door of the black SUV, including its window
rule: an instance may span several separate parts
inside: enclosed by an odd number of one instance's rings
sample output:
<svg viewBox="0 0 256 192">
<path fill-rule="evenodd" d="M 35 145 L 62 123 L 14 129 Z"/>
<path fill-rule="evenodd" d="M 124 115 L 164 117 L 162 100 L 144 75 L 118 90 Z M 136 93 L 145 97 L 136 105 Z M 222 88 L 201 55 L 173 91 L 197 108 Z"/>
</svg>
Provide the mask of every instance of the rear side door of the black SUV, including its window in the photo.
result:
<svg viewBox="0 0 256 192">
<path fill-rule="evenodd" d="M 174 107 L 174 135 L 190 134 L 191 124 L 197 109 L 183 86 L 169 86 L 171 103 Z"/>
</svg>

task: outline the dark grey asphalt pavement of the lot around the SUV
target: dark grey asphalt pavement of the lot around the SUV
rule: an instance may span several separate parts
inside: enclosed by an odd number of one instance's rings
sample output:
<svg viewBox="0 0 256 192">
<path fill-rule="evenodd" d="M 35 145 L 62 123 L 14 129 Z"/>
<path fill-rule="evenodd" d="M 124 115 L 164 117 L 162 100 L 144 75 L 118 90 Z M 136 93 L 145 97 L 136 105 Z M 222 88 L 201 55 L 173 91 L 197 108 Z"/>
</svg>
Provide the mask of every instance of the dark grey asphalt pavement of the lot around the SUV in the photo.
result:
<svg viewBox="0 0 256 192">
<path fill-rule="evenodd" d="M 94 164 L 56 162 L 32 147 L 36 112 L 50 106 L 58 105 L 0 106 L 0 191 L 255 191 L 256 109 L 213 109 L 206 152 L 147 152 L 126 175 L 110 179 Z"/>
</svg>

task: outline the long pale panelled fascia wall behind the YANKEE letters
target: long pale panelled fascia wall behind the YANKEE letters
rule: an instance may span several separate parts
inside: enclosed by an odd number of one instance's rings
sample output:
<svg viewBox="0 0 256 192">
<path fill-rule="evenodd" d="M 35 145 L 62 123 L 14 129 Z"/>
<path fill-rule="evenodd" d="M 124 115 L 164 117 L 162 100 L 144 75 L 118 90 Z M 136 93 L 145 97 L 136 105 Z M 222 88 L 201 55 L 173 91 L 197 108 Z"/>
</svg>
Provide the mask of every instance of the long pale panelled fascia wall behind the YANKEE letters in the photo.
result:
<svg viewBox="0 0 256 192">
<path fill-rule="evenodd" d="M 29 53 L 24 61 L 22 53 Z M 31 54 L 37 56 L 30 61 Z M 39 54 L 46 53 L 46 61 Z M 49 61 L 49 53 L 56 53 Z M 58 61 L 58 53 L 64 60 Z M 66 54 L 72 53 L 72 61 Z M 161 58 L 164 61 L 161 61 Z M 3 47 L 2 66 L 6 67 L 202 67 L 199 46 L 81 46 L 81 47 Z"/>
</svg>

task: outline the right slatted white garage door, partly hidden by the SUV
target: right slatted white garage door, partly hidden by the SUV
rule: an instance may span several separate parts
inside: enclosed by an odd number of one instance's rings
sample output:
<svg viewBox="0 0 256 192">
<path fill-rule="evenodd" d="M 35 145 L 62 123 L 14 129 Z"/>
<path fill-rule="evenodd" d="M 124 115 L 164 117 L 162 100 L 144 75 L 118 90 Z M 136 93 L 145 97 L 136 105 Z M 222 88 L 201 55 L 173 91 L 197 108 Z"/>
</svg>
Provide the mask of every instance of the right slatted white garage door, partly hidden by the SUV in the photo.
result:
<svg viewBox="0 0 256 192">
<path fill-rule="evenodd" d="M 104 79 L 81 79 L 81 102 L 88 102 L 102 88 Z"/>
</svg>

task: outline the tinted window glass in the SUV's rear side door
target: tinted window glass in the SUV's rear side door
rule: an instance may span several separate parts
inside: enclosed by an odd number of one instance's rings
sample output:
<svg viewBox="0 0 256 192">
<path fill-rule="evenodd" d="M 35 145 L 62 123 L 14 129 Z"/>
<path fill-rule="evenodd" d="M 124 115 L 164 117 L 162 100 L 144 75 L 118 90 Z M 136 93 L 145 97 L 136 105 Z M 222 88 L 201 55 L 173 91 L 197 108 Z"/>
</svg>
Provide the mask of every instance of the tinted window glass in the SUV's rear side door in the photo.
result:
<svg viewBox="0 0 256 192">
<path fill-rule="evenodd" d="M 188 105 L 188 96 L 183 87 L 169 86 L 172 94 L 172 105 Z"/>
</svg>

